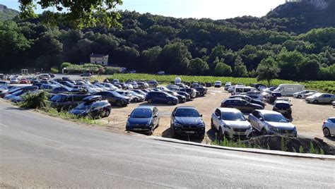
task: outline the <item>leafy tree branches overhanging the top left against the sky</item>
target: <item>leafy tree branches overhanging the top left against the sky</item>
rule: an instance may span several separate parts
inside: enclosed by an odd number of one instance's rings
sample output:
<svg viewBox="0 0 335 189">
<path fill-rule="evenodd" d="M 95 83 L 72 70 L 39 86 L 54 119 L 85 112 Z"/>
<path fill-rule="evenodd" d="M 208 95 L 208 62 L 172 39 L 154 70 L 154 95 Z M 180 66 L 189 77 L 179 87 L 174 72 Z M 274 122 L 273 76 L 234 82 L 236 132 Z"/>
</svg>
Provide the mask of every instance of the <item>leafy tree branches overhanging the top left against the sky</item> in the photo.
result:
<svg viewBox="0 0 335 189">
<path fill-rule="evenodd" d="M 59 0 L 22 0 L 20 1 L 20 17 L 35 18 L 34 8 L 39 4 L 43 9 L 56 8 L 62 13 L 50 13 L 47 20 L 54 20 L 59 17 L 64 23 L 71 24 L 74 28 L 93 27 L 103 23 L 108 28 L 120 26 L 117 20 L 120 14 L 114 11 L 122 0 L 82 0 L 82 1 L 59 1 Z M 64 11 L 66 10 L 66 11 Z"/>
</svg>

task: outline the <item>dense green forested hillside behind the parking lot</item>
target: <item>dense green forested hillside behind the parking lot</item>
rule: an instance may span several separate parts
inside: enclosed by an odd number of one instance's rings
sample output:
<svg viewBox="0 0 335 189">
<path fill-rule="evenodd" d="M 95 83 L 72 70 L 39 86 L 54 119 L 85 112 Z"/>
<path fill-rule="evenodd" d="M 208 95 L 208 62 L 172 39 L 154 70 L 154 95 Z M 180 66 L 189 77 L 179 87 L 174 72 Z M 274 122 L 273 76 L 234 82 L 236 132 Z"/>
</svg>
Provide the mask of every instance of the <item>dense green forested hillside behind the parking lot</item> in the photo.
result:
<svg viewBox="0 0 335 189">
<path fill-rule="evenodd" d="M 125 11 L 119 20 L 122 29 L 99 25 L 85 30 L 71 30 L 57 21 L 57 27 L 45 25 L 44 13 L 0 22 L 0 71 L 84 63 L 94 53 L 109 54 L 110 64 L 146 73 L 247 77 L 256 75 L 260 63 L 271 63 L 280 68 L 281 79 L 335 80 L 335 28 L 330 28 L 335 27 L 334 7 L 330 0 L 322 11 L 297 3 L 263 18 L 228 20 Z M 327 19 L 323 22 L 322 17 Z"/>
</svg>

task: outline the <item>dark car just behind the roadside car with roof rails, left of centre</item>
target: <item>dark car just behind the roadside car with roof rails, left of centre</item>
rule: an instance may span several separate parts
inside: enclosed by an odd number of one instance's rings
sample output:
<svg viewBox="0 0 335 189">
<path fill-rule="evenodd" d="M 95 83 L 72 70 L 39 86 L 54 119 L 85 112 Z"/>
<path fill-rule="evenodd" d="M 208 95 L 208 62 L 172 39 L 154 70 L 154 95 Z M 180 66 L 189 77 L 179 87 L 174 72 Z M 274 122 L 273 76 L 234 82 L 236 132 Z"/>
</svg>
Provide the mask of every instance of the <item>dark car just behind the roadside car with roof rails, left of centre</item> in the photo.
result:
<svg viewBox="0 0 335 189">
<path fill-rule="evenodd" d="M 102 99 L 107 100 L 115 106 L 127 106 L 130 103 L 130 98 L 119 94 L 116 91 L 97 92 L 95 95 L 100 95 Z"/>
</svg>

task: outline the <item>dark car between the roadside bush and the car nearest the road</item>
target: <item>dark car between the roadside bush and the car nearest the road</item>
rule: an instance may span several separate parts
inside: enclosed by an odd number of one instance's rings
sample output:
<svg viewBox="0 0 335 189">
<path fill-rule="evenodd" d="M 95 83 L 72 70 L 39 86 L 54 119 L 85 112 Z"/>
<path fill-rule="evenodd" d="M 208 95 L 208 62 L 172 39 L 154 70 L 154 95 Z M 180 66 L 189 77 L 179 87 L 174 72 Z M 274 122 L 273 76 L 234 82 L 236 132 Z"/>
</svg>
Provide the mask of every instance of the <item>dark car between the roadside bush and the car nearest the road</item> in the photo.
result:
<svg viewBox="0 0 335 189">
<path fill-rule="evenodd" d="M 89 97 L 88 94 L 56 94 L 50 101 L 51 106 L 57 109 L 57 111 L 69 110 L 83 103 L 83 99 Z"/>
</svg>

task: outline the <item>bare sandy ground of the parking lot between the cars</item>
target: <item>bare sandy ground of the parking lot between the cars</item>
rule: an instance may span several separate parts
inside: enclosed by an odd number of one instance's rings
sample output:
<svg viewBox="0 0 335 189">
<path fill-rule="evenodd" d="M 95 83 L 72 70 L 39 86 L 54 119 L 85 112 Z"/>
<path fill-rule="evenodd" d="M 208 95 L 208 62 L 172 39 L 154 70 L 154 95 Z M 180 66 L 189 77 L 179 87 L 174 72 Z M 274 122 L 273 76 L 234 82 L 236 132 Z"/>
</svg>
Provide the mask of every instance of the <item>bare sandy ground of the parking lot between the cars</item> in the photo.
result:
<svg viewBox="0 0 335 189">
<path fill-rule="evenodd" d="M 203 115 L 206 123 L 206 137 L 203 141 L 198 138 L 181 138 L 182 140 L 192 140 L 194 142 L 211 142 L 215 139 L 213 130 L 211 130 L 211 114 L 220 106 L 223 99 L 230 97 L 230 93 L 221 88 L 208 88 L 208 94 L 205 97 L 199 97 L 193 101 L 176 106 L 194 106 L 200 114 Z M 325 138 L 322 133 L 322 123 L 329 117 L 335 116 L 335 109 L 330 104 L 307 104 L 303 99 L 294 99 L 290 97 L 293 104 L 293 124 L 298 129 L 298 136 L 309 138 L 322 138 L 325 142 L 335 145 L 335 138 Z M 108 123 L 110 129 L 124 131 L 128 115 L 136 106 L 147 105 L 148 103 L 131 103 L 127 107 L 112 107 L 112 113 L 108 118 L 103 118 L 103 123 Z M 165 138 L 171 137 L 170 132 L 170 116 L 176 106 L 166 104 L 151 104 L 157 106 L 160 111 L 160 123 L 155 129 L 153 135 L 162 136 Z M 271 104 L 266 104 L 265 109 L 272 110 Z M 247 116 L 249 113 L 245 112 Z"/>
</svg>

